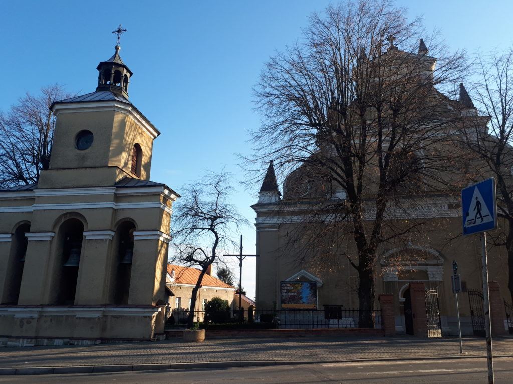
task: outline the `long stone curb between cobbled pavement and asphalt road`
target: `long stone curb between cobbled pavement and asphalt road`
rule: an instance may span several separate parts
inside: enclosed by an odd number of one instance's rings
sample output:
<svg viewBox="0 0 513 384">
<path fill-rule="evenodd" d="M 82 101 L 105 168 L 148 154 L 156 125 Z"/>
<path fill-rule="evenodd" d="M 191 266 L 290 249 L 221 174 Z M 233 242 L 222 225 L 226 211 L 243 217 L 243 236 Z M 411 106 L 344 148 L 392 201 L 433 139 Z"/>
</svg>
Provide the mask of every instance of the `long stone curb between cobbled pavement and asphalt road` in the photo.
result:
<svg viewBox="0 0 513 384">
<path fill-rule="evenodd" d="M 497 355 L 494 358 L 511 358 L 513 355 Z M 132 371 L 167 371 L 185 369 L 225 369 L 244 367 L 273 367 L 290 365 L 312 364 L 351 364 L 354 362 L 383 362 L 383 361 L 418 361 L 418 360 L 458 360 L 486 358 L 485 355 L 465 356 L 436 356 L 436 357 L 396 357 L 396 358 L 372 358 L 354 360 L 326 360 L 326 361 L 218 361 L 218 362 L 189 362 L 176 364 L 134 364 L 111 366 L 76 366 L 76 367 L 34 367 L 34 368 L 0 368 L 0 376 L 9 375 L 51 375 L 51 374 L 76 374 L 76 373 L 114 373 Z"/>
</svg>

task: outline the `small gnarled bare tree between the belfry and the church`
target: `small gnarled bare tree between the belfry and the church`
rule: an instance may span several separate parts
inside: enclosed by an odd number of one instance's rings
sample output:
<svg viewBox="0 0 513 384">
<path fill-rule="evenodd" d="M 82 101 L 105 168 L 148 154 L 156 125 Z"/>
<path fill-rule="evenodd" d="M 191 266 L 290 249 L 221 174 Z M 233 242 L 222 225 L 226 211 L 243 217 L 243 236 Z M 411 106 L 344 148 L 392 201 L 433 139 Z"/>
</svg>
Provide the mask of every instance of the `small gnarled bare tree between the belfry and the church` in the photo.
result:
<svg viewBox="0 0 513 384">
<path fill-rule="evenodd" d="M 201 269 L 192 289 L 188 327 L 194 321 L 196 297 L 207 269 L 220 251 L 236 246 L 232 237 L 241 225 L 247 224 L 231 204 L 231 175 L 208 173 L 201 181 L 185 186 L 173 214 L 172 236 L 177 248 L 176 260 L 186 267 Z"/>
</svg>

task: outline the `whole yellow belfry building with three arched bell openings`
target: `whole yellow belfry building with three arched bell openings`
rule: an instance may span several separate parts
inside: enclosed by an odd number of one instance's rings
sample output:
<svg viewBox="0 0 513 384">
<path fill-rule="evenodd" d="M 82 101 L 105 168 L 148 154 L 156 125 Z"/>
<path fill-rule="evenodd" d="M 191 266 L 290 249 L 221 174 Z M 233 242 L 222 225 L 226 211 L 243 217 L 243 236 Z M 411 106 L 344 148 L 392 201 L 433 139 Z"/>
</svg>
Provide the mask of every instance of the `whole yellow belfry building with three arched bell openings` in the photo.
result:
<svg viewBox="0 0 513 384">
<path fill-rule="evenodd" d="M 172 204 L 160 132 L 128 100 L 120 46 L 95 92 L 57 101 L 49 169 L 0 190 L 0 342 L 151 340 L 164 330 Z"/>
</svg>

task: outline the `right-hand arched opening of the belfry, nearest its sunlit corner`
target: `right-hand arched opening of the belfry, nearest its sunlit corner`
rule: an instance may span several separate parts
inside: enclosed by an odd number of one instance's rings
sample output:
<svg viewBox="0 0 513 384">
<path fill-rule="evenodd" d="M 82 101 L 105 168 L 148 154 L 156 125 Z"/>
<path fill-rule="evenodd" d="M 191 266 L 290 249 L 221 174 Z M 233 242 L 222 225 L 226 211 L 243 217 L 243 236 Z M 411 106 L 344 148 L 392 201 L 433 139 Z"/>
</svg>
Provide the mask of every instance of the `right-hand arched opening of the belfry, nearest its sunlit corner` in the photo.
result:
<svg viewBox="0 0 513 384">
<path fill-rule="evenodd" d="M 115 254 L 115 278 L 113 302 L 117 305 L 128 304 L 130 291 L 130 275 L 132 272 L 132 257 L 135 225 L 126 221 L 116 230 L 117 254 Z"/>
</svg>

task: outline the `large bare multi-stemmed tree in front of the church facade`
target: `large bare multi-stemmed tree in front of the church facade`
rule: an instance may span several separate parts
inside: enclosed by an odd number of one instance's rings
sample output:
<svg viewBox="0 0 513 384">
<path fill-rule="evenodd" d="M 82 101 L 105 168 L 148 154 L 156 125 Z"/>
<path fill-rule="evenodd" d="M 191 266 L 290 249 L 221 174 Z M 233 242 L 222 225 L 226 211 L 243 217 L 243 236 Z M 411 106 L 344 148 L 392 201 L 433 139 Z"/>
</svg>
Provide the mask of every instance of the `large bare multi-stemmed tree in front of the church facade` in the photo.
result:
<svg viewBox="0 0 513 384">
<path fill-rule="evenodd" d="M 255 90 L 264 122 L 248 161 L 274 160 L 288 175 L 285 199 L 302 200 L 307 219 L 290 244 L 301 238 L 303 249 L 345 256 L 357 271 L 361 325 L 371 322 L 378 250 L 422 224 L 394 220 L 405 197 L 453 193 L 443 140 L 460 115 L 442 92 L 455 90 L 465 60 L 436 36 L 419 44 L 421 33 L 420 20 L 386 0 L 330 6 L 270 59 Z"/>
</svg>

